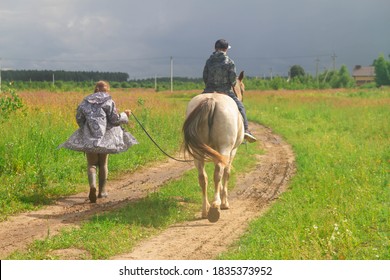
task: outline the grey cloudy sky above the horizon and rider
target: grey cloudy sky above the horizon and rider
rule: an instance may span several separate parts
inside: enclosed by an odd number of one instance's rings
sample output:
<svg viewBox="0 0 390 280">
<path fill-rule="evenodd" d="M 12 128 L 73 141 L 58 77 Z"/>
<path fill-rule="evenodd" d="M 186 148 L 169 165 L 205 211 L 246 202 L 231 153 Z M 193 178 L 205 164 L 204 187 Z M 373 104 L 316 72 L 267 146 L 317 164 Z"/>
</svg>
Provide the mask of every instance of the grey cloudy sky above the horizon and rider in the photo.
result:
<svg viewBox="0 0 390 280">
<path fill-rule="evenodd" d="M 390 1 L 0 0 L 2 69 L 201 77 L 219 38 L 248 76 L 351 71 L 390 54 Z"/>
</svg>

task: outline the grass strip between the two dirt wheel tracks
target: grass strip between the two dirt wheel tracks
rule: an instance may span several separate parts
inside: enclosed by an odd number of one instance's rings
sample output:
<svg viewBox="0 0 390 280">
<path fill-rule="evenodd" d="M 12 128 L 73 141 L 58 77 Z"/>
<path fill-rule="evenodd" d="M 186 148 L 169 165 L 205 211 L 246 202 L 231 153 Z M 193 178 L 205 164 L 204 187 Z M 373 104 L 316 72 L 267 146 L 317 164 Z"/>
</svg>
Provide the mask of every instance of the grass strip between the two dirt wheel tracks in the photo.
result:
<svg viewBox="0 0 390 280">
<path fill-rule="evenodd" d="M 255 165 L 253 155 L 258 153 L 261 151 L 254 145 L 239 149 L 230 186 L 234 186 L 238 172 Z M 206 169 L 212 174 L 213 165 L 208 164 Z M 209 192 L 211 197 L 213 188 L 209 188 Z M 193 169 L 140 201 L 117 211 L 96 215 L 80 228 L 48 235 L 44 240 L 33 242 L 27 250 L 14 252 L 8 259 L 58 259 L 56 250 L 67 248 L 85 251 L 86 259 L 108 259 L 131 251 L 138 241 L 157 234 L 171 224 L 194 219 L 200 211 L 201 191 L 197 172 Z"/>
</svg>

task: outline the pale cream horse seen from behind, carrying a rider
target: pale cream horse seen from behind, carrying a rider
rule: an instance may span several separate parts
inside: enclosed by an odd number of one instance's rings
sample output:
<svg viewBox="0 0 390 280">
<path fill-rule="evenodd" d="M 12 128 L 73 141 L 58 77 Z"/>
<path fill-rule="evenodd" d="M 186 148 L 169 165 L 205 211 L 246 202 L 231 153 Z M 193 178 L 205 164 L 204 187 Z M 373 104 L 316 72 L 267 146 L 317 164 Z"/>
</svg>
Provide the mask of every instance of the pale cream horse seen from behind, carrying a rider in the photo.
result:
<svg viewBox="0 0 390 280">
<path fill-rule="evenodd" d="M 239 100 L 245 90 L 244 72 L 233 88 Z M 223 93 L 202 93 L 191 99 L 183 125 L 184 151 L 194 157 L 202 189 L 202 218 L 218 221 L 219 209 L 228 209 L 228 182 L 237 148 L 244 140 L 243 119 L 235 101 Z M 207 198 L 205 162 L 214 162 L 214 200 Z"/>
</svg>

